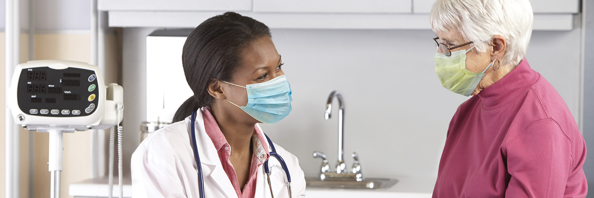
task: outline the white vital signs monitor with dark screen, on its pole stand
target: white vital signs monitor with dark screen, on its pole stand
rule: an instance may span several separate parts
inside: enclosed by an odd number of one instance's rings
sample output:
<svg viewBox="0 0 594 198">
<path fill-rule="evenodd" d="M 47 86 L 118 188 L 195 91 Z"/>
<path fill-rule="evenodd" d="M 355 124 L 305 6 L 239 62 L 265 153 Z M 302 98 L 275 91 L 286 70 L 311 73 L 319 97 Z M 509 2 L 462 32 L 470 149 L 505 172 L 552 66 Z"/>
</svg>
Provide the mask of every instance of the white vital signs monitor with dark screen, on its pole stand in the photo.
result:
<svg viewBox="0 0 594 198">
<path fill-rule="evenodd" d="M 18 64 L 8 91 L 7 103 L 14 121 L 27 130 L 49 133 L 50 197 L 60 197 L 63 134 L 118 125 L 123 117 L 124 89 L 115 83 L 105 86 L 103 74 L 95 65 L 45 60 Z M 114 136 L 112 128 L 110 151 L 113 151 Z M 122 127 L 118 127 L 120 197 L 123 184 L 121 137 Z M 111 178 L 113 152 L 109 154 Z"/>
</svg>

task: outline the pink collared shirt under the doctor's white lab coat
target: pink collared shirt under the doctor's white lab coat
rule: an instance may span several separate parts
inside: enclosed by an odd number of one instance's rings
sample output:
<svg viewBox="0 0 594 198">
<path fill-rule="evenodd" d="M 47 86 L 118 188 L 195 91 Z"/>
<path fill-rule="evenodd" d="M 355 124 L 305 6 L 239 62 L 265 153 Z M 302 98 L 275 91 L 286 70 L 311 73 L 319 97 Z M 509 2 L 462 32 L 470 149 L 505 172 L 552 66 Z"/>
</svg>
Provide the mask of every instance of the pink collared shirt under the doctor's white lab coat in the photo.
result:
<svg viewBox="0 0 594 198">
<path fill-rule="evenodd" d="M 249 180 L 248 183 L 245 184 L 244 190 L 241 191 L 235 168 L 233 168 L 231 161 L 229 161 L 229 156 L 231 155 L 231 146 L 229 146 L 227 139 L 225 139 L 225 136 L 220 130 L 217 121 L 214 120 L 210 108 L 204 108 L 202 117 L 204 119 L 204 128 L 206 129 L 206 134 L 208 134 L 208 137 L 213 140 L 214 147 L 217 149 L 217 153 L 219 153 L 219 159 L 223 165 L 223 169 L 225 169 L 225 173 L 229 177 L 229 181 L 231 181 L 233 188 L 235 188 L 237 196 L 239 198 L 254 197 L 258 167 L 262 165 L 264 161 L 270 158 L 270 153 L 268 153 L 267 149 L 268 144 L 266 144 L 266 138 L 264 138 L 258 127 L 254 125 L 254 135 L 252 135 L 254 154 L 252 154 L 252 162 L 249 168 Z"/>
</svg>

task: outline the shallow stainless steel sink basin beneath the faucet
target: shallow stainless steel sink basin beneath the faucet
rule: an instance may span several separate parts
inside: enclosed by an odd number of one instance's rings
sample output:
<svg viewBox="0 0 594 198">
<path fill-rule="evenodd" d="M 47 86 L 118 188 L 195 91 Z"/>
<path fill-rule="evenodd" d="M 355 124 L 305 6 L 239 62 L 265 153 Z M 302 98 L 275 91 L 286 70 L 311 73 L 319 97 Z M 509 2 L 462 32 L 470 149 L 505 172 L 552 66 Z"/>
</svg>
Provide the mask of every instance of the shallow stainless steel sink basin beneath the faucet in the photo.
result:
<svg viewBox="0 0 594 198">
<path fill-rule="evenodd" d="M 396 184 L 398 180 L 388 178 L 365 178 L 364 181 L 353 180 L 326 180 L 320 181 L 320 178 L 306 177 L 305 184 L 307 187 L 314 188 L 358 188 L 358 189 L 384 189 L 390 188 Z"/>
</svg>

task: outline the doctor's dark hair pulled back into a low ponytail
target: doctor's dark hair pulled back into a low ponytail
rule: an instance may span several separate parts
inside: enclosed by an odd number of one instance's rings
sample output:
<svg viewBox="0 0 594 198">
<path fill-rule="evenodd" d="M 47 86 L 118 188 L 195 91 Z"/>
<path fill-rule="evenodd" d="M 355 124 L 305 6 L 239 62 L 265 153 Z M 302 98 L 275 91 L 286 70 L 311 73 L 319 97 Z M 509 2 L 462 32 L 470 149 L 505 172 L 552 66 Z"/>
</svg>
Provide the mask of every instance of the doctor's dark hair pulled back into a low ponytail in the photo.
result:
<svg viewBox="0 0 594 198">
<path fill-rule="evenodd" d="M 242 49 L 264 36 L 272 37 L 268 26 L 236 12 L 216 15 L 198 25 L 182 50 L 184 74 L 194 95 L 179 106 L 172 122 L 182 121 L 192 111 L 210 106 L 213 102 L 207 91 L 210 80 L 231 81 L 241 61 Z"/>
</svg>

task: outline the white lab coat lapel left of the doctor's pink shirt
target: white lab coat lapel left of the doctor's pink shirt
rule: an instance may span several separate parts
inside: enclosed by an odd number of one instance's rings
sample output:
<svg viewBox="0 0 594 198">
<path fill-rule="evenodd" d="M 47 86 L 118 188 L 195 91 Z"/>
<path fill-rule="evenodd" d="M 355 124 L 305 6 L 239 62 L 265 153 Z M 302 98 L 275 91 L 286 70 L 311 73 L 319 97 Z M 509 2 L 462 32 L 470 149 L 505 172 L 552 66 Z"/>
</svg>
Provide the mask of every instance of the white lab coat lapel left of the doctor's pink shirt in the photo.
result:
<svg viewBox="0 0 594 198">
<path fill-rule="evenodd" d="M 235 188 L 233 188 L 233 185 L 231 184 L 231 181 L 229 181 L 229 177 L 227 176 L 225 169 L 223 169 L 223 165 L 219 159 L 219 154 L 214 148 L 213 141 L 210 139 L 210 137 L 208 137 L 208 134 L 204 129 L 204 120 L 201 111 L 203 111 L 203 109 L 200 109 L 200 111 L 196 112 L 195 137 L 198 155 L 200 155 L 200 163 L 202 164 L 205 188 L 204 192 L 206 195 L 210 195 L 220 194 L 214 192 L 220 191 L 221 193 L 225 194 L 225 197 L 236 198 L 238 196 L 235 192 Z M 188 124 L 188 128 L 189 127 L 190 125 Z M 195 168 L 198 170 L 197 166 L 195 166 Z"/>
</svg>

